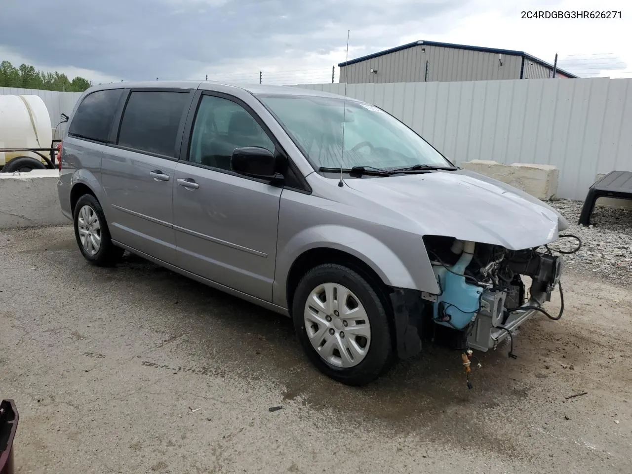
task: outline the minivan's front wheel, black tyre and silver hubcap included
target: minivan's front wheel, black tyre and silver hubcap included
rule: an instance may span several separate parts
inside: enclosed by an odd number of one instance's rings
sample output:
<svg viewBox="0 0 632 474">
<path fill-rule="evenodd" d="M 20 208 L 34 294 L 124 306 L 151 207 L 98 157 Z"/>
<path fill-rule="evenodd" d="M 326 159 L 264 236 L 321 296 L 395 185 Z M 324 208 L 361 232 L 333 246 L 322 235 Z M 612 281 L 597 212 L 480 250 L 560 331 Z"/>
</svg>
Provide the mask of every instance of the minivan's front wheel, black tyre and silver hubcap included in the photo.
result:
<svg viewBox="0 0 632 474">
<path fill-rule="evenodd" d="M 377 379 L 392 356 L 388 309 L 364 277 L 342 265 L 313 268 L 293 300 L 296 334 L 311 362 L 344 384 Z"/>
</svg>

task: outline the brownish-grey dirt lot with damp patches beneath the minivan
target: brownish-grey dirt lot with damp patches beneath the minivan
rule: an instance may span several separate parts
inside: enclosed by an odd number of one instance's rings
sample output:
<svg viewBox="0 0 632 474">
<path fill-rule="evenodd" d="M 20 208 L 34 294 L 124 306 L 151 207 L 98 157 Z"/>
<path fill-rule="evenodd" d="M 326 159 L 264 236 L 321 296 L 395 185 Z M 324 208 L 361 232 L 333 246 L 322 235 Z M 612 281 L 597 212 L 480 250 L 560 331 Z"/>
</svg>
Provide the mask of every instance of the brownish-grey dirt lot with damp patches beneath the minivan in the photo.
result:
<svg viewBox="0 0 632 474">
<path fill-rule="evenodd" d="M 352 389 L 284 317 L 135 257 L 90 267 L 70 227 L 0 233 L 18 472 L 629 474 L 632 291 L 588 278 L 563 277 L 564 317 L 526 324 L 518 359 L 480 356 L 471 391 L 432 346 Z"/>
</svg>

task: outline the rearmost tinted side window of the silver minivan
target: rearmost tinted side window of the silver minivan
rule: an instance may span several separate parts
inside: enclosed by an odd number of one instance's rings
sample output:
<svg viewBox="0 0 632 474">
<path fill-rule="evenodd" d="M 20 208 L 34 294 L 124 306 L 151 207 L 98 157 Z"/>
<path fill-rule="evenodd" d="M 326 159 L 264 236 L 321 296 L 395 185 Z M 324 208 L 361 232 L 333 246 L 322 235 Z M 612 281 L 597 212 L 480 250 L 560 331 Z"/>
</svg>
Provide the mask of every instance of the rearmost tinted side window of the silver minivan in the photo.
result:
<svg viewBox="0 0 632 474">
<path fill-rule="evenodd" d="M 68 134 L 107 142 L 121 94 L 123 89 L 99 90 L 87 95 L 77 107 Z"/>
</svg>

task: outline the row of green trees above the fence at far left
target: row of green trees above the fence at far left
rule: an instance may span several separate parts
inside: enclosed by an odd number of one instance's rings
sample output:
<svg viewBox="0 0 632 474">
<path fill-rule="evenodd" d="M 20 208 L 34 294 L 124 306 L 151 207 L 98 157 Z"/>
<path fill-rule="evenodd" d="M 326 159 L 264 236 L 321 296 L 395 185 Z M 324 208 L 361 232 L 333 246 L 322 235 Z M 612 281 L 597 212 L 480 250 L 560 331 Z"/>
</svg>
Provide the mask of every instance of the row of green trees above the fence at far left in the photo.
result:
<svg viewBox="0 0 632 474">
<path fill-rule="evenodd" d="M 83 92 L 90 82 L 80 76 L 72 81 L 65 74 L 36 71 L 33 66 L 20 64 L 15 68 L 9 61 L 0 63 L 0 87 L 21 87 L 27 89 L 59 90 L 62 92 Z"/>
</svg>

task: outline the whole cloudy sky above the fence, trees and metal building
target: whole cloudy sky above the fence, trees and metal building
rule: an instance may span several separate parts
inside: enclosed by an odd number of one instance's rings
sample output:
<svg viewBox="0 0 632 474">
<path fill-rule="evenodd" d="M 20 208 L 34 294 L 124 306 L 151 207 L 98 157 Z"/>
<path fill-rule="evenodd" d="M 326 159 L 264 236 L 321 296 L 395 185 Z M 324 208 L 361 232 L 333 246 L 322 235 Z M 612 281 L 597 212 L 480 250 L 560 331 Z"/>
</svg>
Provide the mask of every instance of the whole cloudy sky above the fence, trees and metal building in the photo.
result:
<svg viewBox="0 0 632 474">
<path fill-rule="evenodd" d="M 622 18 L 522 19 L 523 10 Z M 35 13 L 39 12 L 39 13 Z M 415 40 L 526 51 L 581 76 L 632 78 L 629 0 L 1 0 L 0 61 L 92 82 L 331 82 L 334 64 Z M 337 82 L 337 68 L 336 68 Z"/>
</svg>

